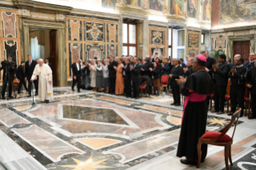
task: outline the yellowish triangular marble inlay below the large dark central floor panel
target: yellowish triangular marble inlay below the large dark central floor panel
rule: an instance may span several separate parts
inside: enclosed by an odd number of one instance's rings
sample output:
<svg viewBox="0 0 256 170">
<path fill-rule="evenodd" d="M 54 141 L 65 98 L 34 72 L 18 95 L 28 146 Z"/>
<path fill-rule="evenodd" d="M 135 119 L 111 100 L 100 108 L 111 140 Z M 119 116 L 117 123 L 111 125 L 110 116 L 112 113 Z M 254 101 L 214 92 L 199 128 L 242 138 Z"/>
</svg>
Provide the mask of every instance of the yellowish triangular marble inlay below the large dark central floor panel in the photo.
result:
<svg viewBox="0 0 256 170">
<path fill-rule="evenodd" d="M 75 140 L 95 150 L 100 148 L 105 148 L 110 145 L 118 144 L 121 142 L 120 140 L 112 140 L 112 139 L 105 139 L 105 138 L 79 138 Z"/>
</svg>

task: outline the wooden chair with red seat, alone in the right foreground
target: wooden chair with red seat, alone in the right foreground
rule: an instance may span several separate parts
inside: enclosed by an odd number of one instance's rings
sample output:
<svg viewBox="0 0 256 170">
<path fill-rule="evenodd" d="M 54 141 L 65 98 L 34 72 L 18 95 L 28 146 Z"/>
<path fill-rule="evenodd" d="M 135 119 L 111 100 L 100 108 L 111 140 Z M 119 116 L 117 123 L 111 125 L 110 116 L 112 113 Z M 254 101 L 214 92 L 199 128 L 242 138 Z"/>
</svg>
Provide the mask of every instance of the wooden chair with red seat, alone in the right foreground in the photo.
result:
<svg viewBox="0 0 256 170">
<path fill-rule="evenodd" d="M 216 146 L 225 147 L 226 170 L 230 169 L 229 160 L 230 160 L 230 165 L 233 166 L 233 163 L 231 160 L 231 145 L 233 144 L 234 132 L 236 131 L 240 113 L 241 113 L 241 108 L 238 108 L 238 110 L 234 112 L 234 115 L 232 115 L 232 119 L 230 123 L 228 123 L 226 127 L 224 127 L 220 132 L 207 131 L 203 136 L 201 136 L 201 138 L 199 138 L 198 144 L 197 144 L 197 154 L 198 154 L 197 168 L 200 168 L 200 164 L 201 164 L 201 144 L 212 144 Z M 235 120 L 236 120 L 236 123 L 234 127 L 234 132 L 231 138 L 230 136 L 226 135 L 226 132 L 230 130 L 230 127 L 232 126 Z M 205 156 L 203 160 L 205 159 Z"/>
</svg>

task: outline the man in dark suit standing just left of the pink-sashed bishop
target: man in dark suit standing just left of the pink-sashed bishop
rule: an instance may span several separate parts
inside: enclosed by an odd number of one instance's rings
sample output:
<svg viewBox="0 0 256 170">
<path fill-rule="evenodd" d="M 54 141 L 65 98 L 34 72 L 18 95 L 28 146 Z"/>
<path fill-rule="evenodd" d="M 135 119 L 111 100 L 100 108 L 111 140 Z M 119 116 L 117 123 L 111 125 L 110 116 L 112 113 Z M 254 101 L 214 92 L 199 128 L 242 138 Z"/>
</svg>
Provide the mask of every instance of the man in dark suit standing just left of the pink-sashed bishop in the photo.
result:
<svg viewBox="0 0 256 170">
<path fill-rule="evenodd" d="M 180 106 L 181 105 L 181 94 L 179 90 L 179 85 L 175 79 L 180 79 L 180 76 L 184 74 L 183 68 L 180 66 L 180 60 L 173 59 L 173 68 L 171 74 L 169 75 L 171 79 L 171 87 L 173 93 L 174 102 L 171 105 Z"/>
</svg>

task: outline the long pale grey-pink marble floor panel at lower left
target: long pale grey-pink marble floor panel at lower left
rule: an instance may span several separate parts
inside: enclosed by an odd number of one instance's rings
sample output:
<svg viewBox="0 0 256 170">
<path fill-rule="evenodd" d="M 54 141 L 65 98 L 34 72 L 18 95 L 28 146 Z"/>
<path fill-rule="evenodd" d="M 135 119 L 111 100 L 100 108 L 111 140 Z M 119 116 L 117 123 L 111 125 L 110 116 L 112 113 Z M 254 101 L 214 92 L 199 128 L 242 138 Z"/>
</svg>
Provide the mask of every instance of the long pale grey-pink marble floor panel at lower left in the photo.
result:
<svg viewBox="0 0 256 170">
<path fill-rule="evenodd" d="M 39 151 L 45 153 L 45 155 L 54 162 L 60 160 L 60 158 L 66 154 L 83 153 L 79 148 L 75 148 L 71 144 L 51 135 L 49 132 L 44 131 L 36 125 L 31 125 L 26 128 L 13 128 L 12 131 Z"/>
</svg>

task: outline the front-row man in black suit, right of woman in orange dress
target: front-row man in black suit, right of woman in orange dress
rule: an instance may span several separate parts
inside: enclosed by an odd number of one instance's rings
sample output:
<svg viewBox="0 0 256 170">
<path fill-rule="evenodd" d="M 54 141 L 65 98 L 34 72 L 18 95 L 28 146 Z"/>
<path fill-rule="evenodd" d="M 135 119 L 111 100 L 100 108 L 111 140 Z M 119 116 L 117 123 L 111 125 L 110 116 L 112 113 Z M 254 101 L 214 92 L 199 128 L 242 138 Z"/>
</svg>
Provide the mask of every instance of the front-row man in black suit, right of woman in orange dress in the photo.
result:
<svg viewBox="0 0 256 170">
<path fill-rule="evenodd" d="M 133 59 L 134 65 L 130 65 L 131 70 L 131 80 L 132 80 L 132 88 L 133 88 L 133 98 L 140 99 L 140 64 L 138 63 L 138 59 Z"/>
</svg>

